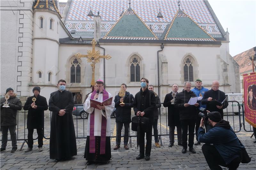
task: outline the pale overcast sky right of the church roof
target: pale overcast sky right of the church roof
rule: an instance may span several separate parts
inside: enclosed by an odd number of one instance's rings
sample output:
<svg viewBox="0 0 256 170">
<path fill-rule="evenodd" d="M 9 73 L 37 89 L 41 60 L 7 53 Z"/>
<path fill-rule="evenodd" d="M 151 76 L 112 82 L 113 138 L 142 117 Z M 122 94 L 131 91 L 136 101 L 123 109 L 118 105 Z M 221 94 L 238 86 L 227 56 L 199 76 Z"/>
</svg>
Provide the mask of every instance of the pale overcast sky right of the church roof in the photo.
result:
<svg viewBox="0 0 256 170">
<path fill-rule="evenodd" d="M 256 0 L 208 1 L 223 29 L 226 31 L 228 28 L 231 56 L 256 46 Z"/>
</svg>

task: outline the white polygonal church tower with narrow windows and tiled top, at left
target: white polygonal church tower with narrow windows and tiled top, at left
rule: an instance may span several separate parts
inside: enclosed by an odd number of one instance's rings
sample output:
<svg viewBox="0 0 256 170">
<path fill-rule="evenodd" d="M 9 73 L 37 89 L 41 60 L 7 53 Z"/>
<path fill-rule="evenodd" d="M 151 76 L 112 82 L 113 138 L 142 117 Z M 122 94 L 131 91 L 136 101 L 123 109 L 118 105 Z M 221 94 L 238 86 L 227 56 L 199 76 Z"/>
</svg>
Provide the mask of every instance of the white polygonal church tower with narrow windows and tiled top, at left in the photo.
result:
<svg viewBox="0 0 256 170">
<path fill-rule="evenodd" d="M 58 81 L 59 26 L 61 15 L 56 0 L 37 0 L 33 4 L 32 79 L 34 86 L 44 88 L 43 94 L 56 90 Z M 48 93 L 47 93 L 48 91 Z"/>
</svg>

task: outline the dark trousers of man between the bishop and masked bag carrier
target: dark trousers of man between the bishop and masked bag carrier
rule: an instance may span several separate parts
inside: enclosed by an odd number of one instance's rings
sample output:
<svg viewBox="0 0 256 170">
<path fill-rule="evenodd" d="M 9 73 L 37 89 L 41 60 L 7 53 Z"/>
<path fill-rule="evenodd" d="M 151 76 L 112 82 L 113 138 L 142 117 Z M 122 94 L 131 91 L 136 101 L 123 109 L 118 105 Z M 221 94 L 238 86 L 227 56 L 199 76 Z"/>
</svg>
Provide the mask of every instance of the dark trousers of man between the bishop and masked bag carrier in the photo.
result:
<svg viewBox="0 0 256 170">
<path fill-rule="evenodd" d="M 121 143 L 121 132 L 124 125 L 124 144 L 128 144 L 129 140 L 129 122 L 116 122 L 116 144 Z"/>
</svg>

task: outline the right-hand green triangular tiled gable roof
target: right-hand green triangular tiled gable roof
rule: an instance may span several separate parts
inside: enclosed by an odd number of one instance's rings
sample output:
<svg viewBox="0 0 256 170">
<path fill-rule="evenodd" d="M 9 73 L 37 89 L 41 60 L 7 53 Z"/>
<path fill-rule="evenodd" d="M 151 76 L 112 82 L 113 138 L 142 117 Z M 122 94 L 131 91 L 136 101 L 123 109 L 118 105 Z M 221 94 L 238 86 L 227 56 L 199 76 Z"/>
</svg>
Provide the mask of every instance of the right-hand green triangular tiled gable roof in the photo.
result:
<svg viewBox="0 0 256 170">
<path fill-rule="evenodd" d="M 172 19 L 171 25 L 167 28 L 164 40 L 181 41 L 216 41 L 210 34 L 199 26 L 192 18 L 180 9 Z"/>
</svg>

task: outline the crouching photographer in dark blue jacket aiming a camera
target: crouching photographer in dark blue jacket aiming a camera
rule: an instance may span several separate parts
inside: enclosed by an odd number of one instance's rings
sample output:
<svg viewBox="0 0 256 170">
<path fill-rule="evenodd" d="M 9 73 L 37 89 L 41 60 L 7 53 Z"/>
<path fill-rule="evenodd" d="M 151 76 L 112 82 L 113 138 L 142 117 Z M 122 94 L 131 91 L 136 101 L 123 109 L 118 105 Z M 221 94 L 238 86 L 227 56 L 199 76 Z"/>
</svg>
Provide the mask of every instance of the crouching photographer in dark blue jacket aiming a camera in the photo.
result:
<svg viewBox="0 0 256 170">
<path fill-rule="evenodd" d="M 198 130 L 199 142 L 202 146 L 204 157 L 210 169 L 219 170 L 220 166 L 235 170 L 242 160 L 244 145 L 236 137 L 229 122 L 221 119 L 220 112 L 209 113 L 207 123 L 213 128 L 204 133 L 204 119 L 201 119 Z M 220 166 L 219 166 L 220 165 Z"/>
</svg>

